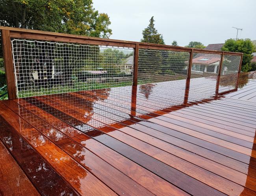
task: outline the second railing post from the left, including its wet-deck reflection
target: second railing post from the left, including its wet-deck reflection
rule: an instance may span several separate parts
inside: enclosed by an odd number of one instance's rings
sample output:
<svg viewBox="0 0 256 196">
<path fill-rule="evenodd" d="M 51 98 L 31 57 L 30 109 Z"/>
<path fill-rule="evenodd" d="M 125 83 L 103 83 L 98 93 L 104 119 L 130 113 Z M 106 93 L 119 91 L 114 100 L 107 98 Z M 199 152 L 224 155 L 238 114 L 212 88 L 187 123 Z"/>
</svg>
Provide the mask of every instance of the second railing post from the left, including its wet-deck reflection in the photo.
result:
<svg viewBox="0 0 256 196">
<path fill-rule="evenodd" d="M 134 49 L 134 67 L 132 80 L 132 100 L 131 100 L 131 115 L 136 116 L 136 101 L 137 101 L 137 85 L 138 85 L 138 65 L 139 65 L 139 43 Z"/>
</svg>

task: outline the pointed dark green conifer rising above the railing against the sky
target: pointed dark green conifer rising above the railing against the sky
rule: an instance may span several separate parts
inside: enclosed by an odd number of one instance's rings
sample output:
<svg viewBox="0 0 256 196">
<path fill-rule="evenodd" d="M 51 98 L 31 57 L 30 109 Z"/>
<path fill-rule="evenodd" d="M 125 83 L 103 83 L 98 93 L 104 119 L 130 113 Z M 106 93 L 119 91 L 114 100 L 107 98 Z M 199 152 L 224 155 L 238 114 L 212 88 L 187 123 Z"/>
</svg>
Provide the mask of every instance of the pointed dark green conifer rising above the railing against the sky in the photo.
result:
<svg viewBox="0 0 256 196">
<path fill-rule="evenodd" d="M 153 43 L 153 44 L 165 44 L 163 40 L 163 35 L 159 34 L 156 28 L 154 27 L 154 16 L 149 20 L 149 25 L 142 31 L 143 38 L 141 42 Z"/>
</svg>

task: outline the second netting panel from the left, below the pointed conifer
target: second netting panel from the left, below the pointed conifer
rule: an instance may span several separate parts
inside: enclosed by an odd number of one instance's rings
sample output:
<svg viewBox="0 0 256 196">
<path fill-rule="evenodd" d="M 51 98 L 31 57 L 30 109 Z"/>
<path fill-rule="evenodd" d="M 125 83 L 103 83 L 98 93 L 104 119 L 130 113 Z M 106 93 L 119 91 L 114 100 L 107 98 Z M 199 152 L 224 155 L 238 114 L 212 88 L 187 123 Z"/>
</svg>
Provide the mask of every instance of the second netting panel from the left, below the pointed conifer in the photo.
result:
<svg viewBox="0 0 256 196">
<path fill-rule="evenodd" d="M 187 78 L 185 62 L 188 60 L 187 52 L 139 49 L 137 99 L 151 99 L 155 107 L 160 106 L 160 97 L 171 100 L 173 96 L 175 103 L 182 103 Z"/>
</svg>

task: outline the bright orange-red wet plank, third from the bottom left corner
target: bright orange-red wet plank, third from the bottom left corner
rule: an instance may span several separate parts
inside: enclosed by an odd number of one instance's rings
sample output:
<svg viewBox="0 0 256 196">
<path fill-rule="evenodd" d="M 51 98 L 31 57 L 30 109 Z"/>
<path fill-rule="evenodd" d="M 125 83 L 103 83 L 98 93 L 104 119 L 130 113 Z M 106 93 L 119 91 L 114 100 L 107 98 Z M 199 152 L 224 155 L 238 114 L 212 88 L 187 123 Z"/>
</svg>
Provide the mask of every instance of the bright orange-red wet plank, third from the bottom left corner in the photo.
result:
<svg viewBox="0 0 256 196">
<path fill-rule="evenodd" d="M 56 171 L 65 178 L 80 194 L 114 195 L 106 185 L 99 181 L 81 165 L 72 160 L 65 152 L 51 143 L 40 132 L 26 123 L 6 105 L 0 103 L 1 116 L 17 131 L 32 147 L 43 156 Z M 62 161 L 61 161 L 62 160 Z M 95 186 L 97 189 L 95 189 Z"/>
</svg>

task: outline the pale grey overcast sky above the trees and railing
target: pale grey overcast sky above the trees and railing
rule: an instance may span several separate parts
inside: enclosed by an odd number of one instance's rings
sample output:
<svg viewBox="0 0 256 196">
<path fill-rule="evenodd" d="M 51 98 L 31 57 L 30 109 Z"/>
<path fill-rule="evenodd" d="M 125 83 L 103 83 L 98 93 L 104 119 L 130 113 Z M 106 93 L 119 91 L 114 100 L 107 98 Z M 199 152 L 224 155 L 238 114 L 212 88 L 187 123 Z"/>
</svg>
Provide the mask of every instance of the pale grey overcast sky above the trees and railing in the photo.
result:
<svg viewBox="0 0 256 196">
<path fill-rule="evenodd" d="M 95 9 L 110 17 L 110 38 L 140 41 L 142 31 L 154 16 L 165 44 L 173 40 L 185 46 L 190 41 L 204 45 L 224 43 L 229 38 L 256 40 L 256 0 L 93 0 Z"/>
</svg>

